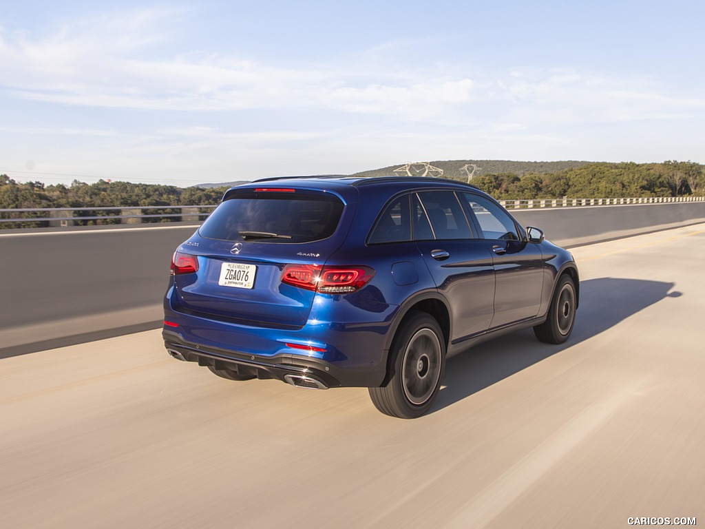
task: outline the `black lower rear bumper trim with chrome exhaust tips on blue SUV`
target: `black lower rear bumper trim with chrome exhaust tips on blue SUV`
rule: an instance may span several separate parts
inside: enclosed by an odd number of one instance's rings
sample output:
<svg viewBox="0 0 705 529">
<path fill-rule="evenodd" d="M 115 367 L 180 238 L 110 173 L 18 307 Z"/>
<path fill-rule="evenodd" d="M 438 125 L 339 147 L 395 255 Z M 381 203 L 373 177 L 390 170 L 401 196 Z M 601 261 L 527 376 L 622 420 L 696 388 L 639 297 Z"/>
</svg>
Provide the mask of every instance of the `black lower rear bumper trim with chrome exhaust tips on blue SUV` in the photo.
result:
<svg viewBox="0 0 705 529">
<path fill-rule="evenodd" d="M 238 375 L 252 375 L 259 379 L 278 379 L 299 387 L 379 387 L 386 375 L 384 364 L 364 370 L 352 369 L 306 355 L 253 355 L 189 343 L 176 332 L 166 328 L 162 331 L 162 336 L 166 350 L 178 360 L 216 369 L 230 369 L 238 372 Z"/>
</svg>

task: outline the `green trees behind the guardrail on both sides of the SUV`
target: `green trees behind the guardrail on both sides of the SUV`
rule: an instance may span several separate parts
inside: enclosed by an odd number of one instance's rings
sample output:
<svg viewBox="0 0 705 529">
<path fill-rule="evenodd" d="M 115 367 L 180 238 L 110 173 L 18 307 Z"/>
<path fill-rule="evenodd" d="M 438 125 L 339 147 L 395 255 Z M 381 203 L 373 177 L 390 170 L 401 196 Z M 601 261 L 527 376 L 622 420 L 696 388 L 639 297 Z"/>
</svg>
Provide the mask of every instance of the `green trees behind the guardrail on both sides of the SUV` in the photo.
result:
<svg viewBox="0 0 705 529">
<path fill-rule="evenodd" d="M 463 160 L 431 162 L 443 169 L 444 178 L 467 181 L 462 171 L 466 164 L 476 164 L 472 184 L 498 200 L 529 200 L 534 198 L 621 198 L 678 197 L 705 194 L 705 166 L 694 162 L 668 161 L 658 164 L 604 162 L 507 162 Z M 394 174 L 397 166 L 358 173 L 360 176 Z M 209 184 L 213 186 L 213 184 Z M 145 183 L 109 182 L 84 183 L 74 180 L 71 186 L 46 186 L 39 181 L 18 183 L 0 174 L 0 209 L 37 209 L 46 207 L 149 207 L 217 204 L 229 186 L 190 187 L 159 186 Z M 165 213 L 170 210 L 143 210 L 142 214 Z M 180 213 L 174 209 L 173 213 Z M 116 215 L 106 210 L 78 212 L 79 217 Z M 0 218 L 40 218 L 37 212 L 0 212 Z M 75 218 L 75 217 L 74 217 Z M 164 222 L 172 219 L 145 219 Z M 120 219 L 80 221 L 80 224 L 116 224 Z M 0 223 L 2 228 L 39 227 L 42 221 Z"/>
</svg>

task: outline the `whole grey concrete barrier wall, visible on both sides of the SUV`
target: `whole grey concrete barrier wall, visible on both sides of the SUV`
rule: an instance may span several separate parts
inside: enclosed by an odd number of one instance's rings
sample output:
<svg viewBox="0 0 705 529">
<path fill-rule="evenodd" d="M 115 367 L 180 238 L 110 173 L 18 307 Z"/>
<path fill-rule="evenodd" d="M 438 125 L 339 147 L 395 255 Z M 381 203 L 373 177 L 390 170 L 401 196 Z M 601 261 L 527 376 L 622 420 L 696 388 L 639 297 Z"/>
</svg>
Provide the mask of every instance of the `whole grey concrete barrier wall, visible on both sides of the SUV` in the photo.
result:
<svg viewBox="0 0 705 529">
<path fill-rule="evenodd" d="M 705 222 L 705 202 L 512 213 L 570 247 Z M 195 227 L 0 233 L 0 358 L 157 327 L 171 255 Z"/>
</svg>

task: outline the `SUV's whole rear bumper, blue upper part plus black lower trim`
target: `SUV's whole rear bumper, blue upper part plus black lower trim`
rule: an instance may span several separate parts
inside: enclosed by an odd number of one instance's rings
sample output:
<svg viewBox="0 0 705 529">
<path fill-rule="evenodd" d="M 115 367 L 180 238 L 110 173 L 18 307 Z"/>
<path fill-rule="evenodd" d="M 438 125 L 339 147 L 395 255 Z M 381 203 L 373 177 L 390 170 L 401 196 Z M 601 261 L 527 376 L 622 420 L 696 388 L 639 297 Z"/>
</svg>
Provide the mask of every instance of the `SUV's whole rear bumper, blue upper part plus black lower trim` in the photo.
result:
<svg viewBox="0 0 705 529">
<path fill-rule="evenodd" d="M 311 384 L 326 388 L 381 386 L 389 326 L 398 307 L 373 312 L 360 309 L 360 300 L 351 303 L 353 295 L 319 298 L 303 327 L 264 327 L 184 312 L 172 286 L 164 298 L 168 325 L 162 336 L 174 358 L 238 375 L 290 384 L 312 377 Z"/>
</svg>

